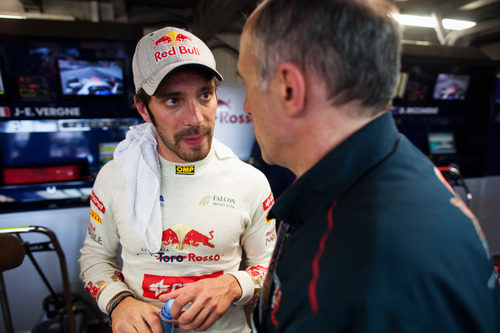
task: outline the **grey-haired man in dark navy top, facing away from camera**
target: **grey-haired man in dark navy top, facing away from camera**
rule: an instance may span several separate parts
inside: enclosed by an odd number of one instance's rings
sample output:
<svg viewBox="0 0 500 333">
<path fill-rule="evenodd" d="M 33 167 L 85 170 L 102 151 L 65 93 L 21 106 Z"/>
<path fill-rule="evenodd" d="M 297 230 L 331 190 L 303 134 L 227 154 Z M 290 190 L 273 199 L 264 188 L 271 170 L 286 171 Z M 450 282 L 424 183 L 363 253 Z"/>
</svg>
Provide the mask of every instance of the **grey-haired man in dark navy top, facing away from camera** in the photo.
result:
<svg viewBox="0 0 500 333">
<path fill-rule="evenodd" d="M 269 0 L 238 71 L 264 160 L 298 179 L 257 332 L 499 332 L 496 273 L 476 217 L 388 109 L 400 28 L 387 0 Z"/>
</svg>

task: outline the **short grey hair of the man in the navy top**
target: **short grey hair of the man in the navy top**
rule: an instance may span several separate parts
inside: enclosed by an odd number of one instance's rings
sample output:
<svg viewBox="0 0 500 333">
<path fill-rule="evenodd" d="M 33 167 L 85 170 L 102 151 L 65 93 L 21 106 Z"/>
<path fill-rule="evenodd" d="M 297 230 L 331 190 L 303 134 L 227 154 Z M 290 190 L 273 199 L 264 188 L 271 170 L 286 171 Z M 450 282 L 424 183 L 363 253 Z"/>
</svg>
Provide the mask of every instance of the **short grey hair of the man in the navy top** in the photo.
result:
<svg viewBox="0 0 500 333">
<path fill-rule="evenodd" d="M 391 103 L 401 28 L 388 0 L 269 0 L 248 22 L 257 88 L 289 61 L 328 87 L 333 105 L 360 101 L 375 113 Z"/>
</svg>

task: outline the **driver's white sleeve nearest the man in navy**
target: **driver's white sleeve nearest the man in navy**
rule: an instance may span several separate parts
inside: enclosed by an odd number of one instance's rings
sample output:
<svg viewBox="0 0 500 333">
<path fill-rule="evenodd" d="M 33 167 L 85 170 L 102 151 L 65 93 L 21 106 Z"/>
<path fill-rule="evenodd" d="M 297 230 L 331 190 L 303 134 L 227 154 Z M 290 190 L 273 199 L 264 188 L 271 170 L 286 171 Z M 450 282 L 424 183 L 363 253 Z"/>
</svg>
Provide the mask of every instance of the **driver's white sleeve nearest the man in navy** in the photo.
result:
<svg viewBox="0 0 500 333">
<path fill-rule="evenodd" d="M 265 176 L 259 172 L 258 181 L 253 186 L 249 207 L 251 221 L 241 239 L 244 252 L 244 270 L 230 273 L 241 286 L 242 296 L 235 302 L 244 305 L 257 300 L 269 266 L 276 241 L 275 221 L 267 220 L 274 198 Z"/>
</svg>

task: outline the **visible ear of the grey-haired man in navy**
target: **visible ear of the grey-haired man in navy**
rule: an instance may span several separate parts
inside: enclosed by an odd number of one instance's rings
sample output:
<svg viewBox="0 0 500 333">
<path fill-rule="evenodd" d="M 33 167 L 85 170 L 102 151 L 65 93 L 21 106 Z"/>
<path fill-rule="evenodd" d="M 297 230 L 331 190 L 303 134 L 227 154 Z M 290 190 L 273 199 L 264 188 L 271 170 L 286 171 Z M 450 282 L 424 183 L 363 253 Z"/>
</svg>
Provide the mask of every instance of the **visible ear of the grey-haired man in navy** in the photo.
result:
<svg viewBox="0 0 500 333">
<path fill-rule="evenodd" d="M 291 62 L 284 62 L 277 70 L 278 93 L 289 116 L 299 114 L 305 105 L 306 81 L 302 70 Z"/>
</svg>

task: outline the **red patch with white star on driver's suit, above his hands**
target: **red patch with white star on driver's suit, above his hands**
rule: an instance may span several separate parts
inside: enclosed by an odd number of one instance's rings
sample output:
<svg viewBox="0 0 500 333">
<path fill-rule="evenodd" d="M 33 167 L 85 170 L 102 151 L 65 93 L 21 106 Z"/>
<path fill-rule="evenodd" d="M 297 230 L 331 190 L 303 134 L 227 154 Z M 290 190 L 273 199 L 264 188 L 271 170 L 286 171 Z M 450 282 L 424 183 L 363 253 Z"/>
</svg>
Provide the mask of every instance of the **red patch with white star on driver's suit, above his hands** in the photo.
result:
<svg viewBox="0 0 500 333">
<path fill-rule="evenodd" d="M 200 276 L 161 276 L 144 274 L 144 279 L 142 280 L 142 296 L 157 299 L 160 295 L 182 288 L 186 284 L 202 279 L 216 278 L 221 276 L 223 273 L 224 271 L 218 271 L 212 274 Z"/>
</svg>

